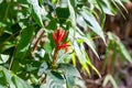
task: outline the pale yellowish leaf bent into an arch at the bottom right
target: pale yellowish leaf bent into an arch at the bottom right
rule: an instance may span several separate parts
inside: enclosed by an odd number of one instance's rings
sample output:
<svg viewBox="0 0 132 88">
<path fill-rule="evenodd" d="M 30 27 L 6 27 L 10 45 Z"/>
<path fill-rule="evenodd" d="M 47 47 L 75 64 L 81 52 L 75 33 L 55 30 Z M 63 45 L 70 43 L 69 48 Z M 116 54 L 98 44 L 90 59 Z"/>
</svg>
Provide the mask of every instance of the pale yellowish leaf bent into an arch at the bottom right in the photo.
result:
<svg viewBox="0 0 132 88">
<path fill-rule="evenodd" d="M 111 75 L 107 75 L 107 76 L 105 77 L 105 80 L 103 80 L 103 82 L 102 82 L 102 86 L 106 87 L 109 81 L 112 84 L 113 88 L 118 88 L 118 85 L 117 85 L 114 78 L 113 78 Z"/>
</svg>

